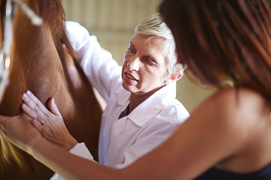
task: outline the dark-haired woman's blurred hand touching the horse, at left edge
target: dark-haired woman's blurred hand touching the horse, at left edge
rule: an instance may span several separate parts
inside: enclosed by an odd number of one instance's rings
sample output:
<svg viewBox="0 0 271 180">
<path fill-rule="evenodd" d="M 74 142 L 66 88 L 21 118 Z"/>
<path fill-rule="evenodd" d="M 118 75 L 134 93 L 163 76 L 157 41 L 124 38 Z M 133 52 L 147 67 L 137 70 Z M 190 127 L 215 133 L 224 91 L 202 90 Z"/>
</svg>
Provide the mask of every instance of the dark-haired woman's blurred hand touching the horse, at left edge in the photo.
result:
<svg viewBox="0 0 271 180">
<path fill-rule="evenodd" d="M 32 125 L 32 118 L 25 113 L 14 117 L 0 115 L 0 134 L 26 152 L 35 142 L 43 139 Z"/>
</svg>

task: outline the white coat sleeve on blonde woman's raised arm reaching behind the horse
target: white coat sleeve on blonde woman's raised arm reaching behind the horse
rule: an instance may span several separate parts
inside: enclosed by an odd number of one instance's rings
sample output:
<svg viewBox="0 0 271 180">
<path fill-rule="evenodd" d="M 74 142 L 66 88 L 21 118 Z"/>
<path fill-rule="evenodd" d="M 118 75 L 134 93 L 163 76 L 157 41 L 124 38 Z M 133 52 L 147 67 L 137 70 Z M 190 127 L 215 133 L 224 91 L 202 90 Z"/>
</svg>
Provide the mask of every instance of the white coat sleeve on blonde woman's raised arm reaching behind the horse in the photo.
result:
<svg viewBox="0 0 271 180">
<path fill-rule="evenodd" d="M 96 36 L 90 36 L 88 30 L 79 23 L 67 22 L 67 34 L 73 48 L 82 59 L 80 66 L 91 84 L 107 101 L 112 88 L 121 80 L 121 68 L 111 53 L 100 47 Z"/>
</svg>

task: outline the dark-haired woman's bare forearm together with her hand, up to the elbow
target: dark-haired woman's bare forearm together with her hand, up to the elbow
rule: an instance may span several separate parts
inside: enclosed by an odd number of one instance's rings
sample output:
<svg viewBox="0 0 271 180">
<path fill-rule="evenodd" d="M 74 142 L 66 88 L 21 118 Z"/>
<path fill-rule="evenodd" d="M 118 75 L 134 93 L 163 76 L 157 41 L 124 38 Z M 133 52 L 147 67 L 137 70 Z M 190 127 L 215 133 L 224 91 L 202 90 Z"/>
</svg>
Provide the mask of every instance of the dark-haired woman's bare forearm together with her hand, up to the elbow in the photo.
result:
<svg viewBox="0 0 271 180">
<path fill-rule="evenodd" d="M 115 172 L 55 146 L 31 122 L 32 118 L 24 113 L 16 117 L 0 115 L 0 135 L 66 179 L 110 179 Z"/>
</svg>

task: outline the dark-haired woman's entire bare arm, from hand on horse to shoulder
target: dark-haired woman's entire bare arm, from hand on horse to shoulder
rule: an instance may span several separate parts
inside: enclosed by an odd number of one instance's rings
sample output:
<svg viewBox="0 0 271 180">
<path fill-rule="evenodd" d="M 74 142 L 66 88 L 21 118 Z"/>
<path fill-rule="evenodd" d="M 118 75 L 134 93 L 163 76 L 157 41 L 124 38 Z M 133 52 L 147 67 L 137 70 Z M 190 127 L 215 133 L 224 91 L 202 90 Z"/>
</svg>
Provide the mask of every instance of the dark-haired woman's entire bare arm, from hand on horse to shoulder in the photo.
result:
<svg viewBox="0 0 271 180">
<path fill-rule="evenodd" d="M 193 179 L 240 152 L 246 142 L 246 124 L 236 113 L 238 105 L 225 102 L 236 102 L 236 96 L 209 98 L 161 146 L 122 170 L 69 154 L 36 135 L 38 132 L 31 136 L 34 127 L 30 122 L 26 127 L 24 121 L 7 123 L 0 118 L 0 129 L 6 132 L 4 137 L 65 178 Z"/>
</svg>

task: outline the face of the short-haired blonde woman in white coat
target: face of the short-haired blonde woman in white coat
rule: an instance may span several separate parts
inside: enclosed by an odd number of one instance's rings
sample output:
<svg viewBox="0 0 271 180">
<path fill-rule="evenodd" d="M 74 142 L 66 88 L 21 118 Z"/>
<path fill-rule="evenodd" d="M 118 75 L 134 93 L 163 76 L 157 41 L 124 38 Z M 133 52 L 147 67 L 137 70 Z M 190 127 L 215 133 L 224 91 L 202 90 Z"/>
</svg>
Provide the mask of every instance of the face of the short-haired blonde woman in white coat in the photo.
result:
<svg viewBox="0 0 271 180">
<path fill-rule="evenodd" d="M 136 35 L 129 42 L 122 65 L 122 86 L 138 95 L 154 93 L 166 77 L 165 40 Z"/>
</svg>

